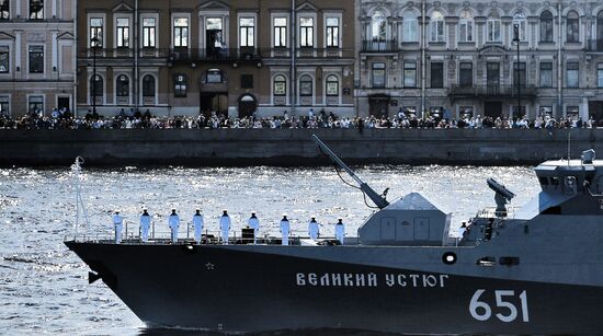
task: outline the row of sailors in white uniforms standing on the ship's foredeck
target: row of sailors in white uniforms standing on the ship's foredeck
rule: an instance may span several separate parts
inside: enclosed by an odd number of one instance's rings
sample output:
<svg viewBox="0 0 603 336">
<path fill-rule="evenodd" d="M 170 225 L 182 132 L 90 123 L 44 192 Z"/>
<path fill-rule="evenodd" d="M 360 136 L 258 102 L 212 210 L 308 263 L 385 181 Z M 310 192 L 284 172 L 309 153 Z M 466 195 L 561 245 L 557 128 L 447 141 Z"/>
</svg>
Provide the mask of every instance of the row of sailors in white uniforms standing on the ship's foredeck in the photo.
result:
<svg viewBox="0 0 603 336">
<path fill-rule="evenodd" d="M 122 242 L 122 229 L 123 229 L 124 219 L 120 215 L 120 211 L 115 211 L 113 216 L 113 224 L 115 228 L 115 244 Z M 143 209 L 143 215 L 140 216 L 140 237 L 143 242 L 148 242 L 149 240 L 149 229 L 151 224 L 151 218 L 147 209 Z M 228 245 L 228 235 L 230 232 L 230 217 L 228 216 L 228 210 L 224 210 L 219 219 L 219 230 L 223 244 Z M 251 217 L 248 219 L 247 224 L 250 229 L 253 229 L 253 244 L 258 242 L 258 233 L 260 230 L 260 220 L 255 216 L 255 211 L 251 212 Z M 168 225 L 170 227 L 170 235 L 172 243 L 178 243 L 178 229 L 180 227 L 180 217 L 175 212 L 175 209 L 172 209 L 172 213 L 168 218 Z M 201 244 L 202 232 L 203 232 L 204 219 L 201 215 L 201 209 L 196 209 L 195 215 L 193 215 L 193 228 L 194 228 L 194 239 L 197 244 Z M 289 233 L 291 224 L 287 219 L 287 215 L 283 213 L 283 219 L 280 223 L 281 234 L 282 234 L 282 244 L 289 244 Z M 320 230 L 316 217 L 312 216 L 310 222 L 308 223 L 308 234 L 311 240 L 317 240 L 320 236 Z M 343 219 L 340 218 L 335 224 L 335 239 L 343 245 L 343 237 L 345 236 L 345 227 L 343 224 Z"/>
</svg>

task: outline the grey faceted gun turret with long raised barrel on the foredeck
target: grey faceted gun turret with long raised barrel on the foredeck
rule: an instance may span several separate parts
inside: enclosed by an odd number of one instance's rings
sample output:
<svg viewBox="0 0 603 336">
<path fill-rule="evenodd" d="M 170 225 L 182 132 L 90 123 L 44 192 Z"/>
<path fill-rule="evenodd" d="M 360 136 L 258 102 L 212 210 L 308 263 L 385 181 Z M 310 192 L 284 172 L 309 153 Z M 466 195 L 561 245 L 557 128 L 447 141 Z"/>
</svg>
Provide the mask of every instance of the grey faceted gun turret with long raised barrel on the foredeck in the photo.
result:
<svg viewBox="0 0 603 336">
<path fill-rule="evenodd" d="M 442 246 L 447 240 L 451 213 L 445 213 L 422 195 L 411 193 L 391 204 L 378 195 L 339 159 L 317 136 L 312 140 L 333 162 L 345 170 L 360 189 L 379 208 L 359 229 L 363 245 Z"/>
</svg>

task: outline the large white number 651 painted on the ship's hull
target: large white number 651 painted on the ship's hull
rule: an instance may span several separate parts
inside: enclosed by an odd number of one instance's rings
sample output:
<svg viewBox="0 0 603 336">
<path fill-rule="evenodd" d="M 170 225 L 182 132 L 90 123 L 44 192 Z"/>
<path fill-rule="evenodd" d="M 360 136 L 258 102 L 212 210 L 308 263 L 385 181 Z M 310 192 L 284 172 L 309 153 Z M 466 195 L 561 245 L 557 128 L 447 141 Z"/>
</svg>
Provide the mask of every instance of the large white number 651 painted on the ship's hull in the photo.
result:
<svg viewBox="0 0 603 336">
<path fill-rule="evenodd" d="M 477 321 L 488 321 L 492 317 L 492 308 L 486 301 L 480 301 L 481 294 L 485 289 L 478 289 L 471 302 L 469 303 L 469 312 L 471 316 Z M 530 314 L 527 311 L 527 292 L 524 290 L 519 294 L 521 306 L 517 309 L 515 303 L 508 301 L 508 299 L 515 298 L 515 291 L 513 290 L 494 290 L 496 298 L 496 316 L 502 322 L 513 322 L 517 320 L 521 314 L 523 322 L 530 322 Z M 516 302 L 516 299 L 512 301 Z"/>
</svg>

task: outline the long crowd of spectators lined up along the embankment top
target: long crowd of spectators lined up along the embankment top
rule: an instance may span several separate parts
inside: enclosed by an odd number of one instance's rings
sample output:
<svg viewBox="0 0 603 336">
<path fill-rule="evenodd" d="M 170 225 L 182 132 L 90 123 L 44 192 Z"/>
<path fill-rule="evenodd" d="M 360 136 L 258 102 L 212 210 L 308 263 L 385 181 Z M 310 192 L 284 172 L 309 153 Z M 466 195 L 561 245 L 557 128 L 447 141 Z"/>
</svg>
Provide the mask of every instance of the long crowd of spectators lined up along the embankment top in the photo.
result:
<svg viewBox="0 0 603 336">
<path fill-rule="evenodd" d="M 603 121 L 603 120 L 602 120 Z M 593 128 L 603 126 L 593 118 L 556 119 L 548 115 L 535 119 L 481 117 L 480 115 L 464 115 L 459 118 L 439 118 L 437 116 L 418 117 L 410 112 L 400 109 L 394 117 L 338 117 L 325 109 L 315 113 L 308 108 L 306 113 L 289 116 L 287 112 L 272 117 L 232 118 L 219 113 L 192 116 L 158 117 L 148 109 L 146 112 L 121 109 L 115 116 L 102 116 L 89 112 L 83 117 L 75 117 L 69 109 L 53 109 L 49 115 L 37 111 L 13 119 L 0 114 L 0 129 L 167 129 L 167 128 L 521 128 L 521 129 L 555 129 L 555 128 Z"/>
</svg>

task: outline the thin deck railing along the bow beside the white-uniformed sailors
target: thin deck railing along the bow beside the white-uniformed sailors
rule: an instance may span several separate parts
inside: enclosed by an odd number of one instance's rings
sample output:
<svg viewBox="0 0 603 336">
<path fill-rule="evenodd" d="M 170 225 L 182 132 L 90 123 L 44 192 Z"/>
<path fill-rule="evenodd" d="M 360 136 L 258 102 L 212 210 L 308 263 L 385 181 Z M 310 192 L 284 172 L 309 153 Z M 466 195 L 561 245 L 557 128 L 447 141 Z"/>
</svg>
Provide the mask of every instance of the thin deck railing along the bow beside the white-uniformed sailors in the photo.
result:
<svg viewBox="0 0 603 336">
<path fill-rule="evenodd" d="M 76 242 L 87 242 L 87 243 L 102 243 L 111 244 L 115 243 L 114 229 L 112 225 L 107 225 L 107 229 L 104 232 L 99 232 L 94 234 L 79 234 L 76 236 L 65 236 L 65 241 L 76 241 Z M 194 227 L 191 222 L 186 224 L 181 224 L 179 228 L 178 244 L 195 244 L 194 240 Z M 204 229 L 202 232 L 201 243 L 202 245 L 219 245 L 223 244 L 221 232 L 219 230 L 208 230 Z M 166 224 L 156 224 L 155 221 L 151 221 L 149 228 L 148 241 L 143 242 L 143 234 L 139 223 L 124 221 L 124 227 L 122 231 L 121 244 L 171 244 L 171 230 Z M 280 245 L 282 236 L 280 232 L 261 232 L 255 240 L 253 235 L 244 235 L 238 230 L 231 229 L 228 235 L 229 244 L 253 244 L 255 241 L 257 244 L 269 244 L 269 245 Z M 292 230 L 289 232 L 289 242 L 291 245 L 300 245 L 302 242 L 311 241 L 310 236 L 307 235 L 307 231 L 303 230 Z M 320 235 L 318 245 L 332 245 L 337 239 L 329 235 Z M 357 237 L 346 237 L 346 245 L 357 245 Z"/>
</svg>

